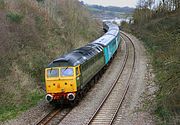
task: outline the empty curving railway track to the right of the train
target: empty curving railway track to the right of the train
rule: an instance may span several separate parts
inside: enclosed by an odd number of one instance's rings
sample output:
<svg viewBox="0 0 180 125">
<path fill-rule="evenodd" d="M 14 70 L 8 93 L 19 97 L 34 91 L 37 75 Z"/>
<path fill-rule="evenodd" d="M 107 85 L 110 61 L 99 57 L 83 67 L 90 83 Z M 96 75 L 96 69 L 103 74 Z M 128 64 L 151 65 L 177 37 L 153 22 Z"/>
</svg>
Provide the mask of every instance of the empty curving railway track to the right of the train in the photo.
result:
<svg viewBox="0 0 180 125">
<path fill-rule="evenodd" d="M 113 124 L 116 115 L 121 108 L 123 100 L 128 92 L 128 88 L 130 86 L 130 80 L 134 71 L 135 66 L 135 46 L 132 40 L 123 32 L 123 39 L 126 42 L 126 56 L 124 59 L 124 64 L 117 75 L 117 78 L 114 80 L 112 87 L 109 89 L 107 95 L 94 112 L 90 120 L 87 122 L 87 125 L 91 124 L 103 124 L 103 125 L 111 125 Z M 125 69 L 131 67 L 130 72 L 125 72 Z M 127 80 L 125 83 L 121 83 L 121 76 L 127 75 Z"/>
</svg>

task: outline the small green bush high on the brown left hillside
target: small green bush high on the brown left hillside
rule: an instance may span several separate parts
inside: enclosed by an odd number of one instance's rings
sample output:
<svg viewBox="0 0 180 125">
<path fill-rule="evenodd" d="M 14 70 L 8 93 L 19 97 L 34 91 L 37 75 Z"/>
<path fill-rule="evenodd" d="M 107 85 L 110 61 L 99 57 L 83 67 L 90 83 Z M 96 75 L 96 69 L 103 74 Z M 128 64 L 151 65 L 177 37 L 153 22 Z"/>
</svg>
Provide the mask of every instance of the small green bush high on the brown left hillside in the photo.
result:
<svg viewBox="0 0 180 125">
<path fill-rule="evenodd" d="M 9 21 L 15 23 L 21 23 L 24 18 L 24 16 L 18 12 L 9 12 L 6 17 Z"/>
</svg>

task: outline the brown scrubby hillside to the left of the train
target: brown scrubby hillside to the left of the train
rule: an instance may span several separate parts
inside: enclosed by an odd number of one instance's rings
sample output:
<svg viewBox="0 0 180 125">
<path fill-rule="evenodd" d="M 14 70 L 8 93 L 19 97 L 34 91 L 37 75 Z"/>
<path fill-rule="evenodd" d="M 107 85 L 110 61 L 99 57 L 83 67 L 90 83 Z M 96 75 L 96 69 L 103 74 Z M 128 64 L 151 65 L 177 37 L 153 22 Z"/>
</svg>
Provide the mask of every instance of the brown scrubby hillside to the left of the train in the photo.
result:
<svg viewBox="0 0 180 125">
<path fill-rule="evenodd" d="M 0 121 L 44 99 L 40 86 L 52 59 L 102 34 L 79 2 L 37 1 L 0 0 Z"/>
</svg>

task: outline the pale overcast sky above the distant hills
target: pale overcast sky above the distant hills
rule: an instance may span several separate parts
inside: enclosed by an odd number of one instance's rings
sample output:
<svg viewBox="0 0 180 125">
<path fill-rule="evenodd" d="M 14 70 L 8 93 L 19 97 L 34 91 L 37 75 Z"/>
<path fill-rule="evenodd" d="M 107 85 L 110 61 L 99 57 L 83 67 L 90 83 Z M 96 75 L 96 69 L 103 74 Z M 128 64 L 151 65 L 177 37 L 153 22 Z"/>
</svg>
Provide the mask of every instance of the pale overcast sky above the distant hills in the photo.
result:
<svg viewBox="0 0 180 125">
<path fill-rule="evenodd" d="M 136 7 L 138 0 L 79 0 L 84 1 L 87 4 L 97 4 L 103 6 L 129 6 L 129 7 Z"/>
</svg>

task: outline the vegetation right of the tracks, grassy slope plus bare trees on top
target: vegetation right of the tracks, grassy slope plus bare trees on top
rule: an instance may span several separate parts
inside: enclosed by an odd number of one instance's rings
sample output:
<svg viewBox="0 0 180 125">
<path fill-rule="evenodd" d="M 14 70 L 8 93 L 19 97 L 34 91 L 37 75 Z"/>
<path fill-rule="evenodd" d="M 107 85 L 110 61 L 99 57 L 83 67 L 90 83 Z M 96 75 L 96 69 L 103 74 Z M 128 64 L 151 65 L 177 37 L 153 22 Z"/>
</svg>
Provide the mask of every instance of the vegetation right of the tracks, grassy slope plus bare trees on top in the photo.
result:
<svg viewBox="0 0 180 125">
<path fill-rule="evenodd" d="M 159 89 L 154 102 L 149 104 L 159 118 L 157 124 L 179 124 L 180 1 L 162 0 L 156 6 L 153 0 L 140 0 L 133 17 L 133 33 L 152 55 Z"/>
</svg>

